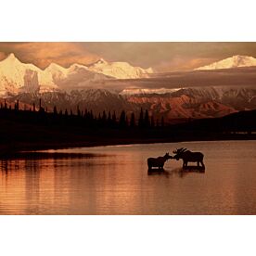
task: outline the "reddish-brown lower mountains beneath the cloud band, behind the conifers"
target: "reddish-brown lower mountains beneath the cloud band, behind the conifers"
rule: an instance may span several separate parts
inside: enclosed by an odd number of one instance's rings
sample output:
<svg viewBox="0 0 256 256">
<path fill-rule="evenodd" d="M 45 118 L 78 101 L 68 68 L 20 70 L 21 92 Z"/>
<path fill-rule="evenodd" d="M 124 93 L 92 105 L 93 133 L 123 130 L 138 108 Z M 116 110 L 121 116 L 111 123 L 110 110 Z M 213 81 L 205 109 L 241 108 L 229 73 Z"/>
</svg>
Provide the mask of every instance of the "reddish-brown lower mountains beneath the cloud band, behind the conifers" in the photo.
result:
<svg viewBox="0 0 256 256">
<path fill-rule="evenodd" d="M 104 89 L 83 89 L 68 92 L 22 93 L 7 98 L 32 106 L 42 106 L 48 110 L 72 109 L 93 110 L 96 115 L 103 110 L 115 111 L 117 116 L 124 109 L 127 114 L 135 113 L 138 118 L 140 109 L 148 110 L 155 120 L 163 117 L 166 122 L 184 122 L 188 119 L 216 118 L 240 110 L 256 109 L 256 89 L 238 87 L 198 87 L 178 89 L 170 93 L 120 94 Z M 20 105 L 21 106 L 21 105 Z"/>
</svg>

